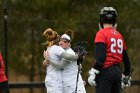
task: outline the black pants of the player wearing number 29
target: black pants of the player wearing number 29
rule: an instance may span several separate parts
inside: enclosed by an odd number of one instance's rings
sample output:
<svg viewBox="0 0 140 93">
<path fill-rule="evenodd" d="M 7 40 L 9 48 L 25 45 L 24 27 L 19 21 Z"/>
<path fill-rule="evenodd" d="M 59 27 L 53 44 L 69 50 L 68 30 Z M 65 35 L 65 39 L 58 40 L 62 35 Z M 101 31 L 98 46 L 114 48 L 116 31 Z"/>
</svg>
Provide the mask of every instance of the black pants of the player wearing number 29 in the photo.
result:
<svg viewBox="0 0 140 93">
<path fill-rule="evenodd" d="M 121 74 L 119 65 L 102 69 L 96 77 L 96 93 L 120 93 Z"/>
</svg>

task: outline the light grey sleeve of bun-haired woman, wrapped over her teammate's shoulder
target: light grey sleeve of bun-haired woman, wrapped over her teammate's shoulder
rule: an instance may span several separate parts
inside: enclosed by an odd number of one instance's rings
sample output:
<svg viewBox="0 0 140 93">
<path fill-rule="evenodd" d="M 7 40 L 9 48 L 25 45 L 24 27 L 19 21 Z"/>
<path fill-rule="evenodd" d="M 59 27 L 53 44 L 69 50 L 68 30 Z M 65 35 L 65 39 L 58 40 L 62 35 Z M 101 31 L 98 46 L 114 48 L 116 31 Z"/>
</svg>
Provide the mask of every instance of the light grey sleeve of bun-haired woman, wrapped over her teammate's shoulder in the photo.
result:
<svg viewBox="0 0 140 93">
<path fill-rule="evenodd" d="M 60 57 L 66 59 L 66 60 L 71 60 L 71 61 L 74 61 L 74 60 L 78 59 L 77 54 L 69 54 L 67 52 L 62 52 Z"/>
</svg>

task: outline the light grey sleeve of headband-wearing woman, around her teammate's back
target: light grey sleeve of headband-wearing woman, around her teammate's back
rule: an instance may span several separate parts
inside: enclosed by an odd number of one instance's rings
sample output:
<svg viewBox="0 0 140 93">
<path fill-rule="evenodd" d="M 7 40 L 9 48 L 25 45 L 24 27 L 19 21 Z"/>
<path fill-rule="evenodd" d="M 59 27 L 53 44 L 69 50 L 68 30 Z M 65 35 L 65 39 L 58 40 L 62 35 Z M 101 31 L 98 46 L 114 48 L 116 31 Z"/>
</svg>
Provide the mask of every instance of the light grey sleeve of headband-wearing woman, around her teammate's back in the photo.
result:
<svg viewBox="0 0 140 93">
<path fill-rule="evenodd" d="M 64 66 L 66 66 L 69 63 L 69 61 L 62 59 L 60 62 L 57 62 L 56 60 L 52 60 L 51 58 L 49 58 L 49 63 L 56 69 L 62 69 Z"/>
</svg>

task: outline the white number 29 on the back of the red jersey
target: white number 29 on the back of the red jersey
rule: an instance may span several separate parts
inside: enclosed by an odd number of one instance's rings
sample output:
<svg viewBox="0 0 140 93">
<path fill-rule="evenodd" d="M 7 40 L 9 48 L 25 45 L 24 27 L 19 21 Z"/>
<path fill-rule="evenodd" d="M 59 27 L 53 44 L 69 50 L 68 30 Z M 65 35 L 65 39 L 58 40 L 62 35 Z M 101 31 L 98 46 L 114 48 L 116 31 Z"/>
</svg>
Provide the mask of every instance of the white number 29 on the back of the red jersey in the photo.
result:
<svg viewBox="0 0 140 93">
<path fill-rule="evenodd" d="M 123 52 L 123 42 L 121 39 L 111 38 L 111 52 L 122 54 Z"/>
</svg>

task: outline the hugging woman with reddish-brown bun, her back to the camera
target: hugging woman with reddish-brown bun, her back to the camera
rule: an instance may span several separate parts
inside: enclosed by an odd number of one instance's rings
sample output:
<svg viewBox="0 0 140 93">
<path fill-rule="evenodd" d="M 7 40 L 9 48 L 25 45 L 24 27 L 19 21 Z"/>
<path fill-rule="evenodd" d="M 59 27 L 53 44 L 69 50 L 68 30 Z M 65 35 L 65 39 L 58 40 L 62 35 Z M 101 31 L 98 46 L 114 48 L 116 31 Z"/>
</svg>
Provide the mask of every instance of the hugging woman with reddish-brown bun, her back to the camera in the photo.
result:
<svg viewBox="0 0 140 93">
<path fill-rule="evenodd" d="M 62 47 L 58 46 L 59 35 L 57 32 L 49 28 L 44 31 L 43 35 L 46 37 L 47 53 L 49 54 L 49 57 L 44 56 L 45 59 L 52 59 L 55 62 L 60 62 L 61 58 L 73 61 L 78 59 L 77 55 L 68 54 Z M 47 61 L 45 60 L 45 62 Z M 45 86 L 47 93 L 63 93 L 61 70 L 56 69 L 51 64 L 47 65 L 46 68 Z"/>
</svg>

